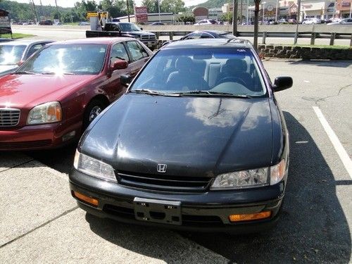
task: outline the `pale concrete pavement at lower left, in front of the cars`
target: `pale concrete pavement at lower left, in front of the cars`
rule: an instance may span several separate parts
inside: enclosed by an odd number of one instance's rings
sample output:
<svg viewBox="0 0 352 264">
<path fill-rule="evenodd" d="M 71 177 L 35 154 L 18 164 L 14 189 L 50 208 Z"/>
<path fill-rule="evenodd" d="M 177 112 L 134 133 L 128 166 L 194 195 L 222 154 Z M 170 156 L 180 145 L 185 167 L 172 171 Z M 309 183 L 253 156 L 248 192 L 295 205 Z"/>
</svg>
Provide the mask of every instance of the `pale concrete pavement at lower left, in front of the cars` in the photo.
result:
<svg viewBox="0 0 352 264">
<path fill-rule="evenodd" d="M 228 263 L 168 230 L 86 215 L 67 175 L 0 153 L 0 263 Z"/>
</svg>

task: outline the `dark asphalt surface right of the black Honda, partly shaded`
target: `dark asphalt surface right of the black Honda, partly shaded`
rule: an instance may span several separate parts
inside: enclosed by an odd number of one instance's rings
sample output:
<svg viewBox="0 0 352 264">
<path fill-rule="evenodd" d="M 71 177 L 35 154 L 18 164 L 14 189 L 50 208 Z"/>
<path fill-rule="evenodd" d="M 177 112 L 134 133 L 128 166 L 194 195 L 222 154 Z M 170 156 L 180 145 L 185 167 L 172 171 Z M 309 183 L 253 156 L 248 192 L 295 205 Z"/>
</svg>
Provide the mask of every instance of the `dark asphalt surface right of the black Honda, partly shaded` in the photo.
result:
<svg viewBox="0 0 352 264">
<path fill-rule="evenodd" d="M 277 93 L 291 144 L 282 218 L 274 230 L 263 234 L 179 234 L 234 263 L 349 263 L 352 175 L 313 107 L 322 111 L 351 162 L 352 61 L 276 60 L 264 64 L 272 80 L 280 75 L 294 78 L 294 87 Z M 27 154 L 68 173 L 74 151 L 75 146 L 70 146 Z"/>
</svg>

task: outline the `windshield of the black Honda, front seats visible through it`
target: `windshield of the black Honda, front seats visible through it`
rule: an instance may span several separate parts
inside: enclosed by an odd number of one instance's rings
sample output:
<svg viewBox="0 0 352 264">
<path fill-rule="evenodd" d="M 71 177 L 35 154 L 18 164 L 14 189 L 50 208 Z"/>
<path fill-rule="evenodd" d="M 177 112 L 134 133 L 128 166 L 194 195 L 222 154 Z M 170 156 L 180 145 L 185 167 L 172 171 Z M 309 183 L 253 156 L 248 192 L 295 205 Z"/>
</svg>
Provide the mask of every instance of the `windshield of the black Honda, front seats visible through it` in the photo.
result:
<svg viewBox="0 0 352 264">
<path fill-rule="evenodd" d="M 250 49 L 162 49 L 146 65 L 130 91 L 149 90 L 184 96 L 266 94 Z"/>
</svg>

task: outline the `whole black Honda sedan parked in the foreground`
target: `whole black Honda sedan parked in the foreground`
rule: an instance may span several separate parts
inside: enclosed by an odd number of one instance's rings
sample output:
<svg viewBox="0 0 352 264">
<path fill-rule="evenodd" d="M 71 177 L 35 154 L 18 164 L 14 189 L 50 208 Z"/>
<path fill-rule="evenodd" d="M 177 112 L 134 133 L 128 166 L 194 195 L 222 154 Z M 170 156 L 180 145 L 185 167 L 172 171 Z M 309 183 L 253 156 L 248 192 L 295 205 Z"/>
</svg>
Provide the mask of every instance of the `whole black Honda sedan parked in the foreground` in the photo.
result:
<svg viewBox="0 0 352 264">
<path fill-rule="evenodd" d="M 131 77 L 122 75 L 122 84 Z M 82 136 L 71 194 L 88 213 L 183 230 L 259 232 L 278 219 L 289 135 L 250 42 L 160 49 Z"/>
</svg>

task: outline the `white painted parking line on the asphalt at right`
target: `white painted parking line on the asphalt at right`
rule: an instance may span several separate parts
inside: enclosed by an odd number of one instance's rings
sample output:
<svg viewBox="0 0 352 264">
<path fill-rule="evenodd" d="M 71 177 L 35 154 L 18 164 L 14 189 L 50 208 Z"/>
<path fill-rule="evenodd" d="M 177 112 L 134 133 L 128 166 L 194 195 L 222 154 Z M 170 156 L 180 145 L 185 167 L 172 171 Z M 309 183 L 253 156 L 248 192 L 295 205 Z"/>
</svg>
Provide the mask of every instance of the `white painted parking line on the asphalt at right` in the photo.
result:
<svg viewBox="0 0 352 264">
<path fill-rule="evenodd" d="M 315 114 L 318 116 L 318 119 L 322 124 L 322 127 L 324 127 L 325 132 L 327 132 L 327 136 L 329 137 L 330 141 L 334 145 L 334 148 L 339 154 L 339 157 L 341 158 L 342 163 L 344 163 L 344 166 L 348 174 L 352 178 L 352 161 L 351 161 L 351 158 L 348 156 L 347 151 L 344 149 L 344 146 L 342 146 L 334 130 L 332 130 L 332 128 L 330 127 L 329 123 L 327 122 L 324 115 L 322 114 L 322 111 L 320 111 L 320 108 L 318 106 L 313 106 L 313 110 L 315 111 Z"/>
</svg>

